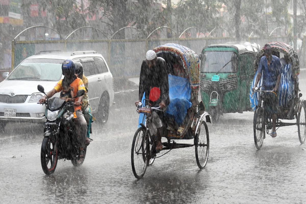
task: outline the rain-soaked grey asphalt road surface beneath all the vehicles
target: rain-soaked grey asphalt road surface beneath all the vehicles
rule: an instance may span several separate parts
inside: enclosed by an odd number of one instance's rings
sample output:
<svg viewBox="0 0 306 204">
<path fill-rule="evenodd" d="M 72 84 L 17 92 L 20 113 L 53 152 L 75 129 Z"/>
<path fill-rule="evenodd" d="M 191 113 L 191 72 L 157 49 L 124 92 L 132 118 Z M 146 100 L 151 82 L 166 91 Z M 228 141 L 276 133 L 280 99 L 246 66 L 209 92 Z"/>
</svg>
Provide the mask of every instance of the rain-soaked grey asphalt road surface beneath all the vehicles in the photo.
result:
<svg viewBox="0 0 306 204">
<path fill-rule="evenodd" d="M 305 83 L 300 89 L 305 98 Z M 276 138 L 267 135 L 257 151 L 252 112 L 226 114 L 219 124 L 208 124 L 205 169 L 198 169 L 194 147 L 176 149 L 136 180 L 130 158 L 136 98 L 136 92 L 116 95 L 107 125 L 93 124 L 84 164 L 59 160 L 51 176 L 40 165 L 42 128 L 8 124 L 0 136 L 0 202 L 306 203 L 306 145 L 300 145 L 297 126 L 279 128 Z"/>
</svg>

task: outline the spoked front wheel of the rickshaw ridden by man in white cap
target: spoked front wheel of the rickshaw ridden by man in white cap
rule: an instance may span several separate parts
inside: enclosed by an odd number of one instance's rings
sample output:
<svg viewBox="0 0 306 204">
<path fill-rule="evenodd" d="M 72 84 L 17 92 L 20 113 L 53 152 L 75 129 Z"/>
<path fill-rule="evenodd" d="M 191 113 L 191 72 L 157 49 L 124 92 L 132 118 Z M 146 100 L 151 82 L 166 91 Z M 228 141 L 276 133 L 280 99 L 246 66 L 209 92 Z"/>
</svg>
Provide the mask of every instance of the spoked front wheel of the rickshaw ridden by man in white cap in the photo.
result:
<svg viewBox="0 0 306 204">
<path fill-rule="evenodd" d="M 149 161 L 149 139 L 145 134 L 144 128 L 138 128 L 132 142 L 131 163 L 136 179 L 141 179 L 144 176 Z"/>
</svg>

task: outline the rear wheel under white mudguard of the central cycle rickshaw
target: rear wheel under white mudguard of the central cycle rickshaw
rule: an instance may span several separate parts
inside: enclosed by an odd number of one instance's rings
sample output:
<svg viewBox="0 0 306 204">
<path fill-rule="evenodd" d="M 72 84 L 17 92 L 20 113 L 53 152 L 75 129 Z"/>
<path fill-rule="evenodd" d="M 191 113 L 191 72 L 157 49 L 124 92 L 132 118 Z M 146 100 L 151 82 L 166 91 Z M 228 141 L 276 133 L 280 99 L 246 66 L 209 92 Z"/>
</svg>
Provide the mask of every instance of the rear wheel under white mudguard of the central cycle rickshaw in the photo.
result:
<svg viewBox="0 0 306 204">
<path fill-rule="evenodd" d="M 207 164 L 209 154 L 209 134 L 205 121 L 201 122 L 196 132 L 195 150 L 196 163 L 200 169 L 204 169 Z"/>
</svg>

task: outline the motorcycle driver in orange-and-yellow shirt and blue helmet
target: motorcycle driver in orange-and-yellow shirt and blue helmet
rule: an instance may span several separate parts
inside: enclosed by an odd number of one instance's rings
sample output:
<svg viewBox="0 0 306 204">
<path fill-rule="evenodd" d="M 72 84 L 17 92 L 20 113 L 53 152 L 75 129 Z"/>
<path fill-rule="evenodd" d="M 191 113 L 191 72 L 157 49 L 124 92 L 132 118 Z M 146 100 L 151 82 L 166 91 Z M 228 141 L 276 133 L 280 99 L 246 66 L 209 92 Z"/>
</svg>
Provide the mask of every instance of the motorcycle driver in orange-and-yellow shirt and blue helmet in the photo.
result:
<svg viewBox="0 0 306 204">
<path fill-rule="evenodd" d="M 76 92 L 78 90 L 83 89 L 85 90 L 83 81 L 76 77 L 75 74 L 75 63 L 73 60 L 67 59 L 62 63 L 62 74 L 64 75 L 64 79 L 58 81 L 58 83 L 55 85 L 55 87 L 49 91 L 46 95 L 44 95 L 41 99 L 39 99 L 39 103 L 46 102 L 47 97 L 51 98 L 55 93 L 58 93 L 63 90 L 62 87 L 62 81 L 65 80 L 70 84 L 70 87 L 73 89 L 74 95 L 76 95 Z M 75 100 L 75 116 L 77 124 L 80 127 L 80 131 L 76 131 L 77 139 L 79 141 L 80 147 L 79 147 L 79 156 L 80 158 L 83 158 L 85 156 L 84 148 L 85 148 L 85 137 L 86 137 L 86 130 L 87 130 L 87 123 L 84 118 L 84 115 L 81 111 L 81 103 L 82 103 L 83 96 L 74 98 Z"/>
</svg>

